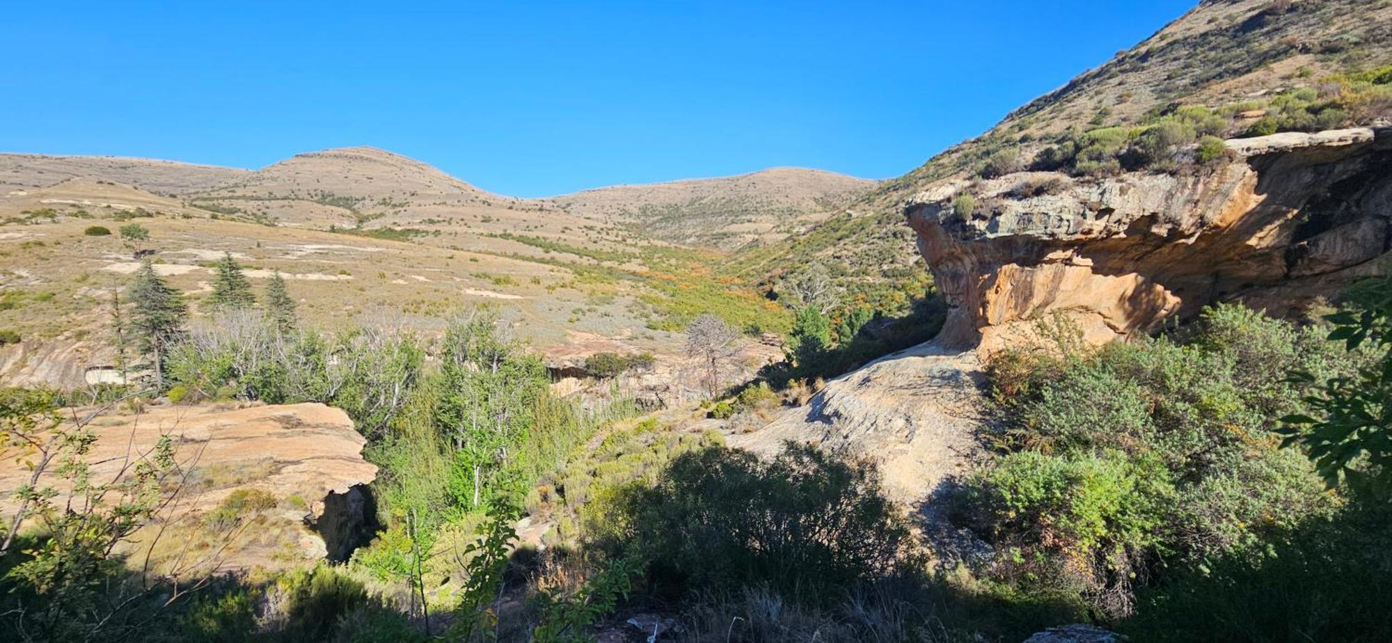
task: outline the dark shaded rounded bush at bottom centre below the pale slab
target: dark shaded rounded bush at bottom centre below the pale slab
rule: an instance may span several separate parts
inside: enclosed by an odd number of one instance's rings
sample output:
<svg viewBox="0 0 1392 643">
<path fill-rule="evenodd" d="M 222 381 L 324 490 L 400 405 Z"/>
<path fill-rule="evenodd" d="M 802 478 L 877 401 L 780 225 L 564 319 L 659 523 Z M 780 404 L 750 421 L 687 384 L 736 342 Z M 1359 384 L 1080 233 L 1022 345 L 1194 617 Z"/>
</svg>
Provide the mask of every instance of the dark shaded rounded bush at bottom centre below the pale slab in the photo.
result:
<svg viewBox="0 0 1392 643">
<path fill-rule="evenodd" d="M 718 447 L 681 455 L 615 502 L 610 525 L 614 546 L 642 550 L 650 580 L 678 593 L 767 585 L 818 603 L 915 561 L 874 466 L 806 445 L 771 461 Z"/>
</svg>

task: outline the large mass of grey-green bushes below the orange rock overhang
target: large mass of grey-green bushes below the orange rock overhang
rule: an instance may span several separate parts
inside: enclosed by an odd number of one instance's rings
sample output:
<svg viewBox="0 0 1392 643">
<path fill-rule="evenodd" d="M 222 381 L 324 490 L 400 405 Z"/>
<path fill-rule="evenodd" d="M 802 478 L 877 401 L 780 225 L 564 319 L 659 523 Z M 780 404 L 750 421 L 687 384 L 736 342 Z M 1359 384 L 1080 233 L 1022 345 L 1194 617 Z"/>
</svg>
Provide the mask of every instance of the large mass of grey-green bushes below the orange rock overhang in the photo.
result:
<svg viewBox="0 0 1392 643">
<path fill-rule="evenodd" d="M 967 482 L 967 522 L 1005 547 L 995 572 L 1073 587 L 1114 617 L 1133 583 L 1240 555 L 1335 509 L 1308 461 L 1279 448 L 1299 408 L 1290 370 L 1332 376 L 1357 358 L 1237 306 L 1183 333 L 991 365 L 998 465 Z"/>
</svg>

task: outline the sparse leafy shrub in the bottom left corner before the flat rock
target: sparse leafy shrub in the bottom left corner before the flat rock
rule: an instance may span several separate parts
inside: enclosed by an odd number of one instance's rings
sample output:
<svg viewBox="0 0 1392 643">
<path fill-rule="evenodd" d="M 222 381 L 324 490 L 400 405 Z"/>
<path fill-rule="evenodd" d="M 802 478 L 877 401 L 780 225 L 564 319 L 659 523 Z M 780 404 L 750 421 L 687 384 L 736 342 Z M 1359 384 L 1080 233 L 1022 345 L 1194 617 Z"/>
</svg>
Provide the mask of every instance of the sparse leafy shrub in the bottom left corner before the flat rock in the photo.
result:
<svg viewBox="0 0 1392 643">
<path fill-rule="evenodd" d="M 167 515 L 163 509 L 175 500 L 181 484 L 170 484 L 170 476 L 177 477 L 174 444 L 164 436 L 148 451 L 129 452 L 106 477 L 88 462 L 96 416 L 64 420 L 52 392 L 0 391 L 0 458 L 29 472 L 14 490 L 18 505 L 6 516 L 0 557 L 25 543 L 15 540 L 21 523 L 35 527 L 24 557 L 7 565 L 0 585 L 13 607 L 6 625 L 24 640 L 121 640 L 135 632 L 132 621 L 149 622 L 163 607 L 159 603 L 174 603 L 182 592 L 174 587 L 152 605 L 155 583 L 125 582 L 116 554 L 138 529 Z"/>
</svg>

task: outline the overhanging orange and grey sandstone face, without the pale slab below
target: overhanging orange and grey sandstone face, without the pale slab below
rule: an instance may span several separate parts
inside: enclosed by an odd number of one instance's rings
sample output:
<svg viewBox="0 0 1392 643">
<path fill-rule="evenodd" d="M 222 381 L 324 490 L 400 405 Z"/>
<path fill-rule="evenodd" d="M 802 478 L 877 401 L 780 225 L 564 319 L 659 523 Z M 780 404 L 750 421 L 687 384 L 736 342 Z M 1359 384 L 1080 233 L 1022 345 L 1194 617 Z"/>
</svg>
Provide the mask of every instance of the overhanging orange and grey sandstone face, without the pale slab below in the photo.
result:
<svg viewBox="0 0 1392 643">
<path fill-rule="evenodd" d="M 1063 313 L 1093 341 L 1242 298 L 1288 313 L 1375 274 L 1392 235 L 1392 131 L 1229 141 L 1193 174 L 1018 173 L 906 206 L 951 312 L 940 341 L 991 351 Z M 952 206 L 969 191 L 977 206 Z"/>
</svg>

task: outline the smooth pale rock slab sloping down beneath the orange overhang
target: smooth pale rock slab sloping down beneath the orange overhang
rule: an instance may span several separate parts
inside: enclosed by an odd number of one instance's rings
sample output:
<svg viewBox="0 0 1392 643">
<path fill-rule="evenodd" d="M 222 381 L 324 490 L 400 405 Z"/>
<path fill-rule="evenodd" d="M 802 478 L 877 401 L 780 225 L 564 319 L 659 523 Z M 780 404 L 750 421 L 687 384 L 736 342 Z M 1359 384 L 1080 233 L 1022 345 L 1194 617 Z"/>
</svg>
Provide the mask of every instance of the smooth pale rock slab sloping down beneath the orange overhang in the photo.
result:
<svg viewBox="0 0 1392 643">
<path fill-rule="evenodd" d="M 869 457 L 889 494 L 916 504 L 980 454 L 980 383 L 974 352 L 922 344 L 828 381 L 807 405 L 729 444 L 773 454 L 792 440 Z"/>
</svg>

